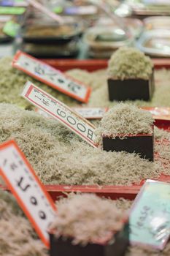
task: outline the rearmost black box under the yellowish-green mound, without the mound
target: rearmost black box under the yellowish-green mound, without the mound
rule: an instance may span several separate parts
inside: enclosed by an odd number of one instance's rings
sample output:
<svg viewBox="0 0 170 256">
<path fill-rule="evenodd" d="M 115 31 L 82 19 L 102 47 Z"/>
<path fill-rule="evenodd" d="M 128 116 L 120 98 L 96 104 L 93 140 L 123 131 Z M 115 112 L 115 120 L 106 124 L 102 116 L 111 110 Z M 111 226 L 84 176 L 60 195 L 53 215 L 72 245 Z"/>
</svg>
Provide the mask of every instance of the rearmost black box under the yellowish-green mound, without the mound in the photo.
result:
<svg viewBox="0 0 170 256">
<path fill-rule="evenodd" d="M 127 79 L 116 80 L 109 78 L 107 80 L 109 90 L 109 100 L 135 100 L 143 99 L 149 101 L 155 90 L 154 71 L 150 75 L 150 80 Z"/>
</svg>

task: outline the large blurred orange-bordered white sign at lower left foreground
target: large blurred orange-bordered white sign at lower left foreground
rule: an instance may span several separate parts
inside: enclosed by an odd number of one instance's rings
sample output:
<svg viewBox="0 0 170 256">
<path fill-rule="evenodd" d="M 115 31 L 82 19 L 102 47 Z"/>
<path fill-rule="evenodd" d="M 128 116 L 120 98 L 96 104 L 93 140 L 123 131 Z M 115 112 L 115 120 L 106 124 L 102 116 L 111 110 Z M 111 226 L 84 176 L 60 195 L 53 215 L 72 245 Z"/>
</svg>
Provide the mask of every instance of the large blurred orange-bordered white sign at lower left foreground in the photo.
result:
<svg viewBox="0 0 170 256">
<path fill-rule="evenodd" d="M 47 230 L 55 217 L 55 204 L 14 140 L 0 146 L 0 174 L 36 233 L 49 247 Z"/>
</svg>

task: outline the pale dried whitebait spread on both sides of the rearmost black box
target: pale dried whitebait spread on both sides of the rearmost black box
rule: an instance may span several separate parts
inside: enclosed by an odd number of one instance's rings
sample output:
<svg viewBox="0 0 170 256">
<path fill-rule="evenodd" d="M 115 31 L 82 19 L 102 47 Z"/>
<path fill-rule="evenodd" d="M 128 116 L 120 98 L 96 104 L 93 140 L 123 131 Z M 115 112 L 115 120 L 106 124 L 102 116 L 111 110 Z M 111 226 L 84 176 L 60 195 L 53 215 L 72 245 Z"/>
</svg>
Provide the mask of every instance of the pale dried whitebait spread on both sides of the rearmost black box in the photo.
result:
<svg viewBox="0 0 170 256">
<path fill-rule="evenodd" d="M 69 70 L 69 75 L 86 82 L 93 88 L 88 106 L 90 107 L 109 107 L 111 108 L 117 101 L 110 102 L 107 89 L 107 70 L 101 69 L 95 72 L 87 72 L 81 69 Z M 170 90 L 169 90 L 170 70 L 155 70 L 155 92 L 150 102 L 144 100 L 125 101 L 137 106 L 148 107 L 169 107 Z M 94 86 L 95 84 L 95 86 Z"/>
</svg>

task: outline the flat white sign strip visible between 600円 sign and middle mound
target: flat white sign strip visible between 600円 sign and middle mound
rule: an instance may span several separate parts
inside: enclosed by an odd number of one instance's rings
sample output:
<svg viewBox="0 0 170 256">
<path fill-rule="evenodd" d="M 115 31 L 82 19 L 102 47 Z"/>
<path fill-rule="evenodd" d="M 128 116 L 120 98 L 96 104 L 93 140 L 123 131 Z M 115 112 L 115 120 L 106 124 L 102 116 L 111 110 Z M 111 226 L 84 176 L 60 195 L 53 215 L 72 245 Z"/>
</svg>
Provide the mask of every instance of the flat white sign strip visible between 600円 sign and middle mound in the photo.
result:
<svg viewBox="0 0 170 256">
<path fill-rule="evenodd" d="M 73 110 L 86 119 L 101 119 L 108 108 L 73 108 Z"/>
</svg>

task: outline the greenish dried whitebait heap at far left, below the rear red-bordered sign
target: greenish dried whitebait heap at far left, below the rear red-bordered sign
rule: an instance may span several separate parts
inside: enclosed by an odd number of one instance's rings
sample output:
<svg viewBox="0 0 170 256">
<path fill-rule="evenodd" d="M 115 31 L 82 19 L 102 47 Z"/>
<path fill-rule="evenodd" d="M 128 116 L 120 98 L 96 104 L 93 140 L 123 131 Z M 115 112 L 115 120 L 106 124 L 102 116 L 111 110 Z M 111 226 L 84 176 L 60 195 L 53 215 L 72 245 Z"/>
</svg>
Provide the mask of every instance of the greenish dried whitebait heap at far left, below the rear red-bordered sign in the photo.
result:
<svg viewBox="0 0 170 256">
<path fill-rule="evenodd" d="M 12 58 L 10 57 L 0 59 L 0 102 L 12 103 L 20 106 L 21 108 L 33 109 L 34 106 L 31 105 L 31 103 L 20 97 L 24 84 L 27 80 L 30 80 L 31 82 L 35 83 L 36 86 L 40 86 L 41 89 L 47 91 L 49 94 L 52 94 L 54 97 L 66 102 L 66 104 L 77 104 L 76 100 L 61 94 L 50 86 L 40 83 L 38 80 L 31 78 L 24 72 L 13 68 L 11 63 Z"/>
</svg>

